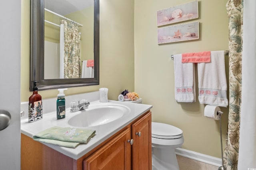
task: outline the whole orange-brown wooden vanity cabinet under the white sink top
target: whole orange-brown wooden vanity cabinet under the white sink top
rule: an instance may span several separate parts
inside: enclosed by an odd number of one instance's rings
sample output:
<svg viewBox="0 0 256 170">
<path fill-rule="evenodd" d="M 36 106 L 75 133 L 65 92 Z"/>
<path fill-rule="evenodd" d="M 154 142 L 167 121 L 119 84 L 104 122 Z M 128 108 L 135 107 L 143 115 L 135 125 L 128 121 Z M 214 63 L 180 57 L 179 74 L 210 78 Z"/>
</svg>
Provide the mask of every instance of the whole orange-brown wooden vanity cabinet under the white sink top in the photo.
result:
<svg viewBox="0 0 256 170">
<path fill-rule="evenodd" d="M 152 170 L 151 154 L 151 111 L 78 160 L 21 135 L 21 170 Z"/>
</svg>

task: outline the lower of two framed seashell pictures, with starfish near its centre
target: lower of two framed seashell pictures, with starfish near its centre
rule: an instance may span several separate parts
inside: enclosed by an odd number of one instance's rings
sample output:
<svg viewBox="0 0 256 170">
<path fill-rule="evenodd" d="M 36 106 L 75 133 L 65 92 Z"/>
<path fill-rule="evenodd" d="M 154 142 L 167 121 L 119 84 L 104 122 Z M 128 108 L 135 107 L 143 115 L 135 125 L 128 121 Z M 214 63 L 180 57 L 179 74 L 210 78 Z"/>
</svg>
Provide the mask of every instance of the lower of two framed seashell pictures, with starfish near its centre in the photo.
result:
<svg viewBox="0 0 256 170">
<path fill-rule="evenodd" d="M 158 44 L 199 39 L 199 22 L 158 28 L 157 39 Z"/>
</svg>

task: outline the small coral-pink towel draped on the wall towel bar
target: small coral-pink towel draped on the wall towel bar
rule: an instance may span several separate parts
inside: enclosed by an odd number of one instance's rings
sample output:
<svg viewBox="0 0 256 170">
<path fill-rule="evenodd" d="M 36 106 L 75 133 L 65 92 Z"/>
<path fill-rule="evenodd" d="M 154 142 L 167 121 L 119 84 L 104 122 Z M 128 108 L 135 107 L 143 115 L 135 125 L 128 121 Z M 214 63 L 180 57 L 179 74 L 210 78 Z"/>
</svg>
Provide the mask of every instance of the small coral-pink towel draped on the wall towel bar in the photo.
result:
<svg viewBox="0 0 256 170">
<path fill-rule="evenodd" d="M 210 51 L 182 54 L 182 63 L 209 63 L 210 61 L 211 61 Z"/>
</svg>

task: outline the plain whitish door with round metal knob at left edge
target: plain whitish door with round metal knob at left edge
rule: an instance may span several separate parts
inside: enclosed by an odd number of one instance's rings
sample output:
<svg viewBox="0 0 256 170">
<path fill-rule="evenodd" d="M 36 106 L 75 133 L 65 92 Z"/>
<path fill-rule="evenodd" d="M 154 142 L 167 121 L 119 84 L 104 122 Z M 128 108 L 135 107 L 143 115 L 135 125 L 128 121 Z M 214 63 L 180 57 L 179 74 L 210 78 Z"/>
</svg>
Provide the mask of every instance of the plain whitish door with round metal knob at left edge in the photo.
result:
<svg viewBox="0 0 256 170">
<path fill-rule="evenodd" d="M 0 5 L 0 110 L 11 115 L 0 131 L 0 169 L 20 170 L 20 35 L 21 1 Z"/>
</svg>

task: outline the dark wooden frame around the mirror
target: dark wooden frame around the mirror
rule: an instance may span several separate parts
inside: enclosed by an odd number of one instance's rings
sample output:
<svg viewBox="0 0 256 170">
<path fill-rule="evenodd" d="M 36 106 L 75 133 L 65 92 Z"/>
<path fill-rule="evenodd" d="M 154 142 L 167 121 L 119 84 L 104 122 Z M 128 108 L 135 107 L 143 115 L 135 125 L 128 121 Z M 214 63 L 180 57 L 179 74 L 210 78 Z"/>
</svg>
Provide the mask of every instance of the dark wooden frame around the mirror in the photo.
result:
<svg viewBox="0 0 256 170">
<path fill-rule="evenodd" d="M 33 81 L 38 81 L 38 90 L 93 86 L 100 83 L 99 40 L 100 4 L 94 0 L 94 78 L 44 79 L 44 0 L 31 0 L 30 20 L 30 91 Z"/>
</svg>

